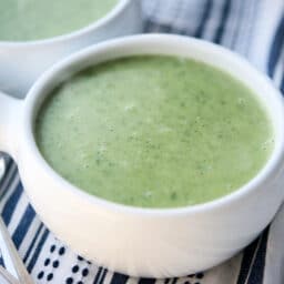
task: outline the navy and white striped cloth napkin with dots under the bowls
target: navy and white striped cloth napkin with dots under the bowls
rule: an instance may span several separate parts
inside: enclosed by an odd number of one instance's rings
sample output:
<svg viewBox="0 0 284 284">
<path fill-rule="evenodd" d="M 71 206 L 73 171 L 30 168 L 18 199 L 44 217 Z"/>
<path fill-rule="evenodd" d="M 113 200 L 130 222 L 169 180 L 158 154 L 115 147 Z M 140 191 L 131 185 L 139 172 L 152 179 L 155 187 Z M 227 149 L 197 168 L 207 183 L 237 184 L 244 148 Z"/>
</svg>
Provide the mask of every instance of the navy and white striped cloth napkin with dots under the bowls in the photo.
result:
<svg viewBox="0 0 284 284">
<path fill-rule="evenodd" d="M 225 45 L 267 73 L 284 93 L 283 0 L 144 0 L 142 4 L 145 32 L 180 33 Z M 257 240 L 226 263 L 183 278 L 152 280 L 109 272 L 57 240 L 29 204 L 17 165 L 9 159 L 0 199 L 13 242 L 39 284 L 284 283 L 284 207 Z"/>
</svg>

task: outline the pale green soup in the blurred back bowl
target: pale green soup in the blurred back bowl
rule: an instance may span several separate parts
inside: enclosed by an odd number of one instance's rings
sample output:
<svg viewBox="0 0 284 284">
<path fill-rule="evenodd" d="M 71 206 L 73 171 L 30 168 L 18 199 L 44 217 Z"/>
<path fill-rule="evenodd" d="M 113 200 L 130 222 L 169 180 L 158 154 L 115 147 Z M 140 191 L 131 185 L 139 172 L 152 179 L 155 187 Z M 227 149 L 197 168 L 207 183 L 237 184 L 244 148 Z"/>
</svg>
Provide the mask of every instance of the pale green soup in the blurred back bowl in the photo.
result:
<svg viewBox="0 0 284 284">
<path fill-rule="evenodd" d="M 0 0 L 0 41 L 62 36 L 106 14 L 119 0 Z"/>
</svg>

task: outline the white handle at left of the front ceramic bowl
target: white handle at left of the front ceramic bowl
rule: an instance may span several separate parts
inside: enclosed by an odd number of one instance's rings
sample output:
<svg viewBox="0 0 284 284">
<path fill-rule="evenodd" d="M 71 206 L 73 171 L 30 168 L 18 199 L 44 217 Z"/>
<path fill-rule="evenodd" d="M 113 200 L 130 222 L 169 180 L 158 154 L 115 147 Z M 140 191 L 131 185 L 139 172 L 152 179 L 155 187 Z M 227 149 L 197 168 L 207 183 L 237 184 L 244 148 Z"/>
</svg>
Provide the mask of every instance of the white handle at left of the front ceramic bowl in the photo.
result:
<svg viewBox="0 0 284 284">
<path fill-rule="evenodd" d="M 17 122 L 21 120 L 23 100 L 14 99 L 0 91 L 0 152 L 17 155 Z"/>
</svg>

